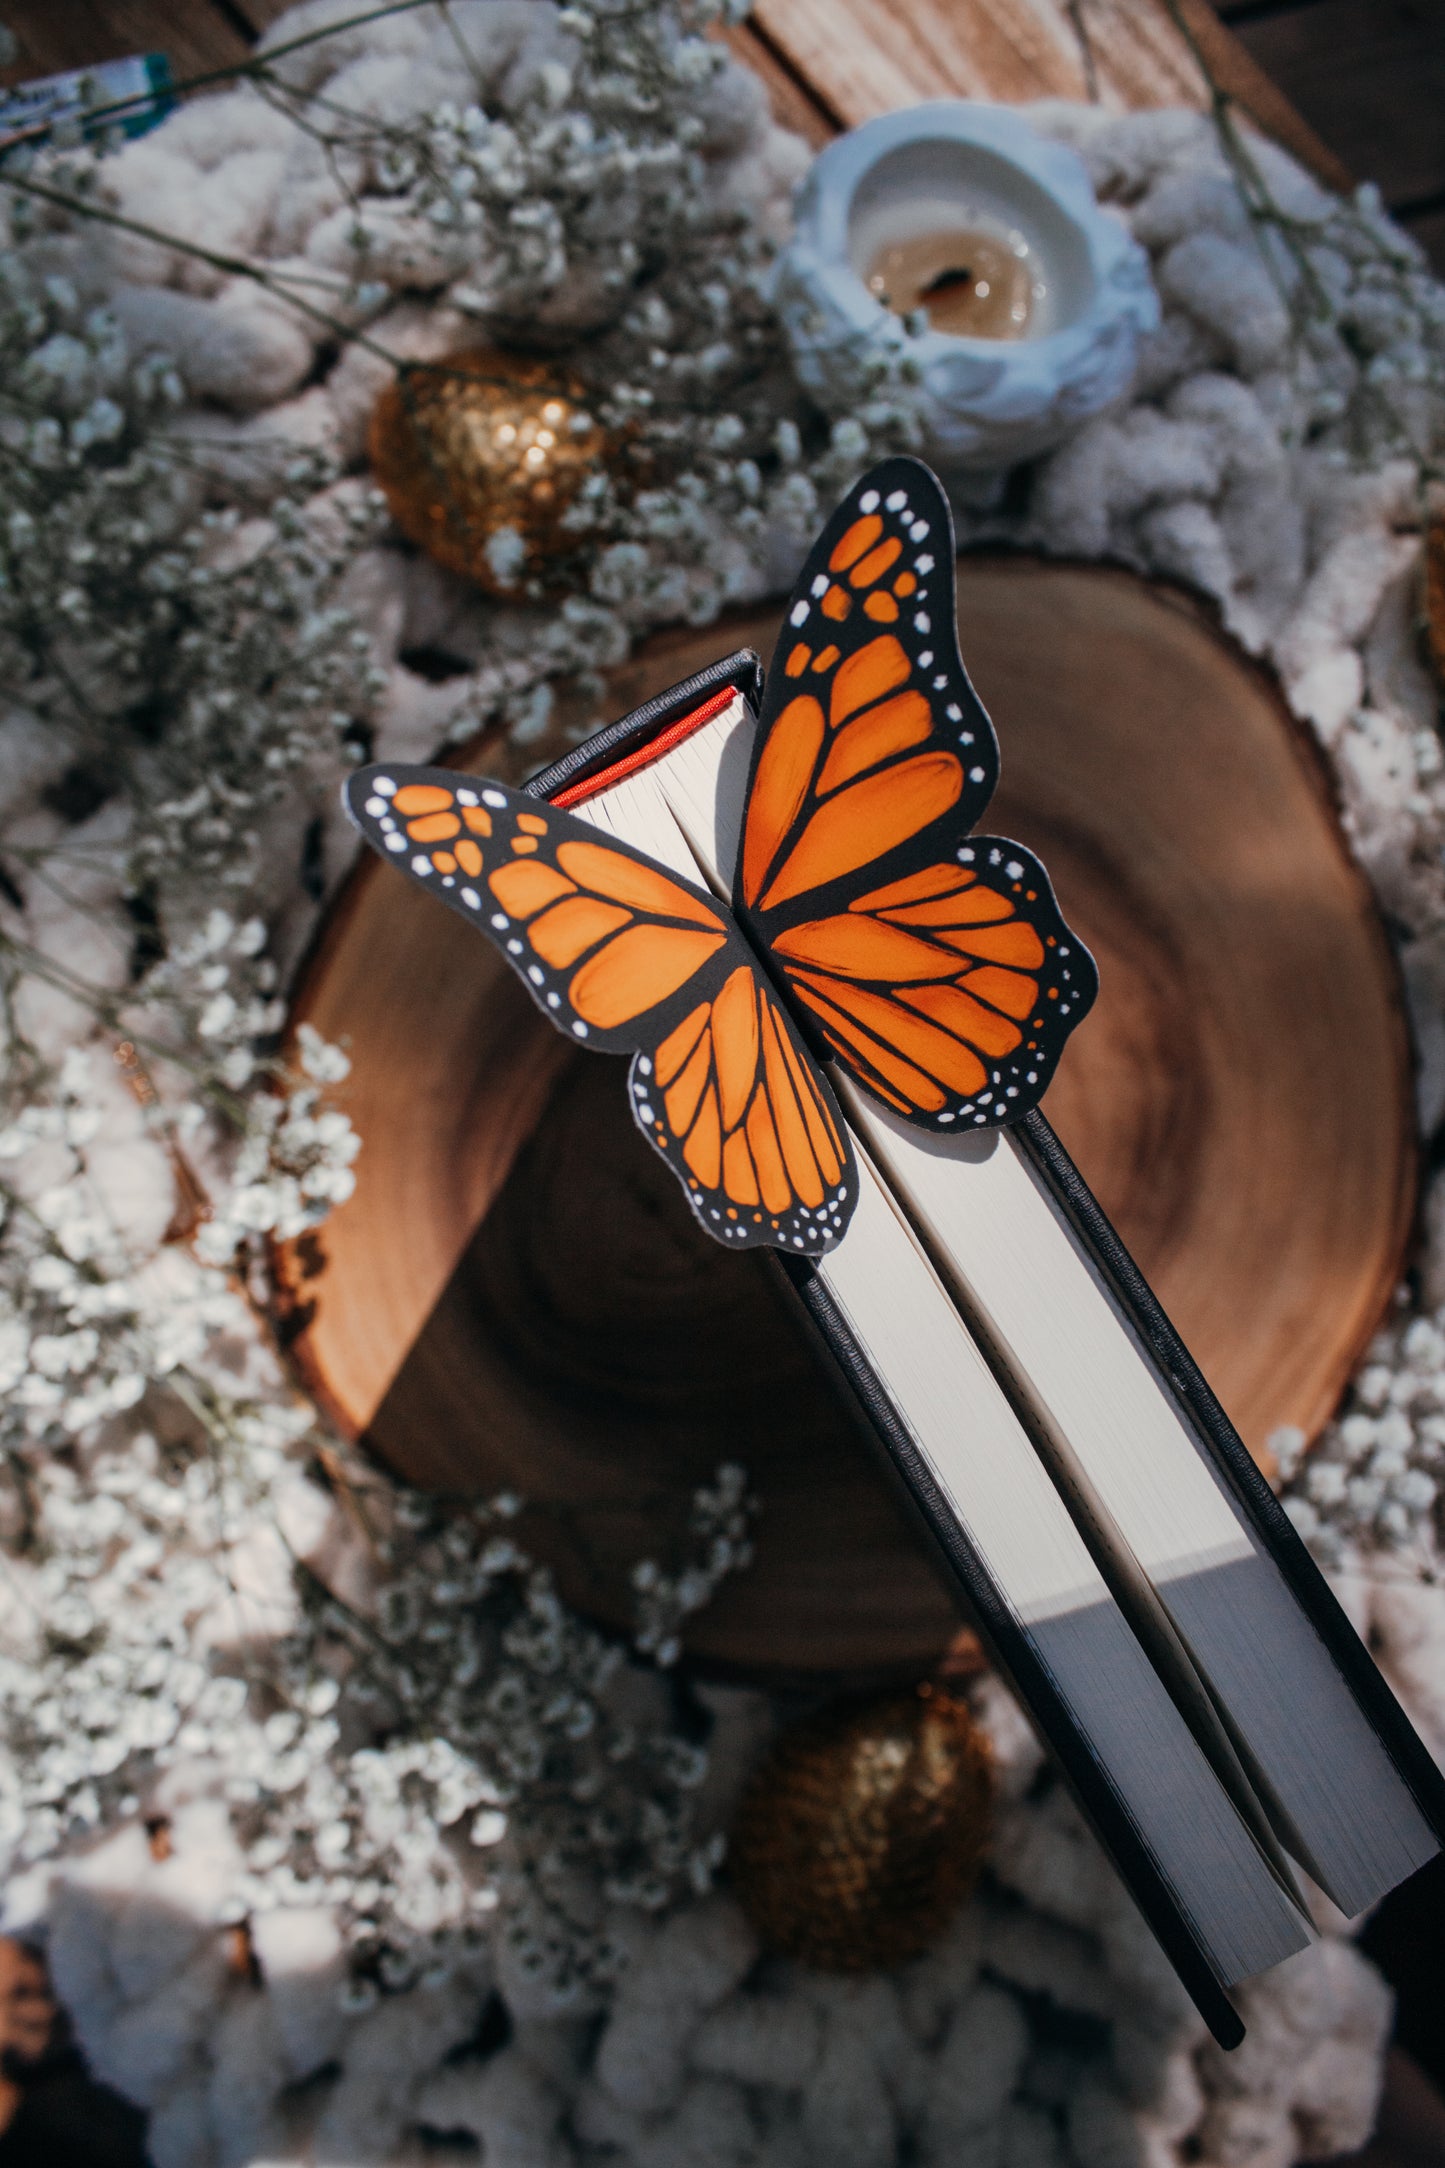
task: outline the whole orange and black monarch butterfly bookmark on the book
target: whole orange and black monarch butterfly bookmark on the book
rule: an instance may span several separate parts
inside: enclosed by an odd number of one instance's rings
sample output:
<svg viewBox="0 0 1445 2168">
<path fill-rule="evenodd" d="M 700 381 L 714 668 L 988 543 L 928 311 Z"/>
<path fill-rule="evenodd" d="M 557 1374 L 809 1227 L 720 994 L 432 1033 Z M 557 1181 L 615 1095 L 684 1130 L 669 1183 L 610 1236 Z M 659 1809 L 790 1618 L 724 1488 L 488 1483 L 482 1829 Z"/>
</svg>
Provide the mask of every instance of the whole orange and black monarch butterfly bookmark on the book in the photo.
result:
<svg viewBox="0 0 1445 2168">
<path fill-rule="evenodd" d="M 581 791 L 544 806 L 381 763 L 347 811 L 559 1032 L 633 1056 L 633 1117 L 708 1234 L 821 1255 L 858 1195 L 830 1064 L 940 1136 L 997 1127 L 1038 1106 L 1094 999 L 1040 861 L 975 833 L 997 776 L 949 507 L 895 460 L 838 507 L 789 605 L 728 900 L 600 835 L 568 809 Z"/>
</svg>

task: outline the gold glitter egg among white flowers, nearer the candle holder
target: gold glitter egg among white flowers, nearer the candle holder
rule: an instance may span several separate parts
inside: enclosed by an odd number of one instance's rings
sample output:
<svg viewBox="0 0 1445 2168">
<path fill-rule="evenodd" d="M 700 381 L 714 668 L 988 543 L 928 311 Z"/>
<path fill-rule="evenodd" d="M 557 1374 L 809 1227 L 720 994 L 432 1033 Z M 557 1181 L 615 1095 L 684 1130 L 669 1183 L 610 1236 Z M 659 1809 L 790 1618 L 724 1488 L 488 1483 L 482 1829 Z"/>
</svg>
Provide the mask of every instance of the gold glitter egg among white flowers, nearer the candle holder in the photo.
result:
<svg viewBox="0 0 1445 2168">
<path fill-rule="evenodd" d="M 368 429 L 392 518 L 490 594 L 555 590 L 576 549 L 563 514 L 615 440 L 557 369 L 468 347 L 403 369 Z"/>
</svg>

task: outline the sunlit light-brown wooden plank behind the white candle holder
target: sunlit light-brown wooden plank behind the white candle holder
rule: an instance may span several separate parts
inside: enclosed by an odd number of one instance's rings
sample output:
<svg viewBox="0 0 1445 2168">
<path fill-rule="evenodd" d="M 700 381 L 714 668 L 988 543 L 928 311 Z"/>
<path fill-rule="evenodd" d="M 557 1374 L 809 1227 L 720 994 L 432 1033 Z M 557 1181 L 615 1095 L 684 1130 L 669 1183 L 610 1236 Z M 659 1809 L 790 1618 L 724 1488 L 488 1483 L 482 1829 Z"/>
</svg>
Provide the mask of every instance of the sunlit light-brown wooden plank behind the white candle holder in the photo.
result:
<svg viewBox="0 0 1445 2168">
<path fill-rule="evenodd" d="M 849 128 L 923 98 L 1088 98 L 1090 76 L 1114 111 L 1207 106 L 1194 39 L 1215 80 L 1259 126 L 1339 186 L 1339 158 L 1207 0 L 1179 7 L 1189 35 L 1166 0 L 1090 0 L 1079 15 L 1088 50 L 1059 0 L 971 0 L 966 9 L 955 0 L 912 0 L 906 9 L 897 0 L 756 0 L 754 22 Z"/>
</svg>

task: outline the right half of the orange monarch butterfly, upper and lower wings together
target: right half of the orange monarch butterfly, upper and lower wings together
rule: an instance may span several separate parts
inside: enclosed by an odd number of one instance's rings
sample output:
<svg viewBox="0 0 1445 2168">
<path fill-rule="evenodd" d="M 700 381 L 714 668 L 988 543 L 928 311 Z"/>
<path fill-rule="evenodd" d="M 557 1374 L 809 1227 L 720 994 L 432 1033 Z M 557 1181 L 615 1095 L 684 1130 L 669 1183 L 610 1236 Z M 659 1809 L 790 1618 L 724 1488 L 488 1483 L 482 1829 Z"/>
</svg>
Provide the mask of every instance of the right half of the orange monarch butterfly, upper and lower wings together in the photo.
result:
<svg viewBox="0 0 1445 2168">
<path fill-rule="evenodd" d="M 734 906 L 821 1041 L 945 1132 L 1025 1114 L 1098 986 L 1038 859 L 968 835 L 997 778 L 947 499 L 888 460 L 819 535 L 784 620 Z"/>
</svg>

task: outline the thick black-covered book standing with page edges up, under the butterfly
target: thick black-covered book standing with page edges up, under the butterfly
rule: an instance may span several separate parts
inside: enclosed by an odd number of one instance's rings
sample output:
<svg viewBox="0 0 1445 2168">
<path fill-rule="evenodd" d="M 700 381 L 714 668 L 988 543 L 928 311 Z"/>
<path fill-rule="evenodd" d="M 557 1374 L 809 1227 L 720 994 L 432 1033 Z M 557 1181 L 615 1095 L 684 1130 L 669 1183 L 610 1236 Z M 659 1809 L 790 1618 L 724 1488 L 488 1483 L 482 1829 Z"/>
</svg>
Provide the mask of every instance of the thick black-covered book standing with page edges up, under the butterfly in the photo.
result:
<svg viewBox="0 0 1445 2168">
<path fill-rule="evenodd" d="M 529 791 L 726 898 L 758 705 L 730 657 Z M 942 1138 L 832 1082 L 854 1218 L 778 1268 L 1233 2044 L 1228 1988 L 1311 1938 L 1300 1871 L 1365 1910 L 1441 1847 L 1445 1780 L 1042 1112 Z"/>
</svg>

